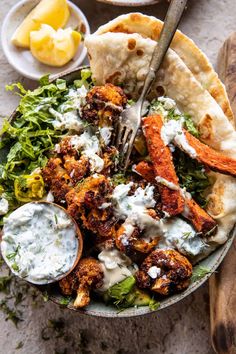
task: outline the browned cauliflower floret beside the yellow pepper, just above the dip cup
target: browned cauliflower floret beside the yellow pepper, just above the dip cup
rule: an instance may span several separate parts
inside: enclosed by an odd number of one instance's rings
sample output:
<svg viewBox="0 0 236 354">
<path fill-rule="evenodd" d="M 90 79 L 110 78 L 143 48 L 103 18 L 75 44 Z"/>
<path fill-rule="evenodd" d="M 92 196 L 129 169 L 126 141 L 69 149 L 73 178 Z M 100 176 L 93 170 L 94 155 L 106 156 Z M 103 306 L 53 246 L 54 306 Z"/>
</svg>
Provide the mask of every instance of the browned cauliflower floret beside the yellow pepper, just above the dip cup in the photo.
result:
<svg viewBox="0 0 236 354">
<path fill-rule="evenodd" d="M 50 188 L 55 201 L 60 203 L 65 201 L 66 194 L 71 190 L 71 178 L 63 168 L 61 158 L 50 158 L 46 167 L 42 170 L 43 180 Z"/>
</svg>

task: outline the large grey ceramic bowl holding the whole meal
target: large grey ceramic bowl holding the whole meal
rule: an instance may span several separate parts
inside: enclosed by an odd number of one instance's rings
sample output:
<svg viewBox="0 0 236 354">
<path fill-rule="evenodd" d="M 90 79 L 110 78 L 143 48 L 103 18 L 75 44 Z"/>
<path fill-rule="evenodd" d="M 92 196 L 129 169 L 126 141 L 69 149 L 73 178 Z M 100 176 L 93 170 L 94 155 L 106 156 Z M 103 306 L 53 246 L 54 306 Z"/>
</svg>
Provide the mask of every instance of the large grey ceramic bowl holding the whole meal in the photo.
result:
<svg viewBox="0 0 236 354">
<path fill-rule="evenodd" d="M 58 75 L 56 78 L 62 78 L 65 79 L 68 83 L 73 82 L 76 79 L 80 79 L 80 72 L 81 69 L 84 67 L 80 67 L 76 70 L 69 70 L 67 72 L 61 73 Z M 13 114 L 10 117 L 10 120 L 14 120 L 16 117 L 17 112 L 13 112 Z M 0 161 L 4 157 L 5 152 L 1 151 L 2 156 L 0 154 Z M 230 234 L 227 242 L 223 244 L 222 246 L 218 247 L 213 253 L 211 253 L 207 258 L 199 262 L 199 265 L 205 268 L 209 269 L 209 273 L 207 273 L 204 277 L 201 279 L 195 281 L 194 283 L 190 284 L 188 289 L 185 291 L 175 294 L 172 296 L 168 296 L 166 299 L 163 299 L 160 302 L 160 309 L 164 309 L 168 306 L 171 306 L 175 304 L 178 301 L 181 301 L 183 298 L 186 296 L 190 295 L 193 291 L 195 291 L 197 288 L 199 288 L 210 276 L 211 274 L 217 269 L 219 264 L 222 262 L 224 259 L 225 255 L 227 254 L 234 236 L 236 234 L 236 228 L 234 227 Z M 40 291 L 47 291 L 49 299 L 52 300 L 53 302 L 57 303 L 58 305 L 61 305 L 63 302 L 63 296 L 61 295 L 59 288 L 56 284 L 48 285 L 47 287 L 38 287 Z M 133 316 L 139 316 L 139 315 L 145 315 L 151 313 L 150 309 L 148 306 L 143 306 L 143 307 L 131 307 L 128 308 L 122 312 L 117 311 L 115 307 L 112 305 L 105 305 L 103 302 L 99 301 L 91 301 L 91 304 L 86 307 L 85 309 L 76 309 L 73 307 L 73 301 L 66 305 L 68 309 L 78 311 L 83 314 L 91 315 L 91 316 L 98 316 L 98 317 L 133 317 Z"/>
</svg>

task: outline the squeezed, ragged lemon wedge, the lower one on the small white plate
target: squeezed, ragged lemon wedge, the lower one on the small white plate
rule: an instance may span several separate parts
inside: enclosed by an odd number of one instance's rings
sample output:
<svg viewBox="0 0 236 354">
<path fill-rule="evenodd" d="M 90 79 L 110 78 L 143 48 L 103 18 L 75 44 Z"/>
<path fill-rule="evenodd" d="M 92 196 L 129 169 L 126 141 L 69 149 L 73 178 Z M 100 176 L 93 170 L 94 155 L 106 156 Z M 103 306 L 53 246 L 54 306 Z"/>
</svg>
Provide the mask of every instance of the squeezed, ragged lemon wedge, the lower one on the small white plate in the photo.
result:
<svg viewBox="0 0 236 354">
<path fill-rule="evenodd" d="M 41 25 L 38 31 L 30 33 L 30 50 L 41 63 L 60 67 L 74 57 L 80 41 L 80 33 L 71 28 L 55 31 L 51 26 Z"/>
</svg>

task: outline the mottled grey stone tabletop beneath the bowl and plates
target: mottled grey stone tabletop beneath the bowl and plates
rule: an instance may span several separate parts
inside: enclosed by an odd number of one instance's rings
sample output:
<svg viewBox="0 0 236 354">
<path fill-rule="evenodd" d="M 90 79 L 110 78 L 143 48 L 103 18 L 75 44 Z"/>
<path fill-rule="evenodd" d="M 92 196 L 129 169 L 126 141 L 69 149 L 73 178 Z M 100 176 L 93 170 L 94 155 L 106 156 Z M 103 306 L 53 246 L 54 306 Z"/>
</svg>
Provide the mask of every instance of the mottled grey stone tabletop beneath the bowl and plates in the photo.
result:
<svg viewBox="0 0 236 354">
<path fill-rule="evenodd" d="M 163 18 L 167 5 L 145 8 L 115 8 L 95 0 L 75 1 L 88 16 L 92 30 L 118 14 L 131 10 Z M 2 0 L 3 20 L 15 0 Z M 189 35 L 215 64 L 224 39 L 236 28 L 236 2 L 232 0 L 192 0 L 181 29 Z M 0 115 L 7 116 L 17 104 L 17 98 L 4 90 L 5 84 L 23 79 L 0 53 Z M 2 270 L 2 273 L 4 269 Z M 1 289 L 1 283 L 0 283 Z M 21 311 L 22 321 L 15 327 L 4 311 L 0 312 L 0 353 L 109 353 L 109 354 L 212 354 L 209 337 L 209 298 L 205 284 L 181 303 L 157 314 L 134 319 L 102 319 L 82 316 L 44 302 L 32 288 L 13 280 L 12 292 L 23 300 L 14 305 L 10 294 L 1 292 L 7 306 Z M 6 310 L 1 305 L 2 310 Z M 20 347 L 16 349 L 17 347 Z"/>
</svg>

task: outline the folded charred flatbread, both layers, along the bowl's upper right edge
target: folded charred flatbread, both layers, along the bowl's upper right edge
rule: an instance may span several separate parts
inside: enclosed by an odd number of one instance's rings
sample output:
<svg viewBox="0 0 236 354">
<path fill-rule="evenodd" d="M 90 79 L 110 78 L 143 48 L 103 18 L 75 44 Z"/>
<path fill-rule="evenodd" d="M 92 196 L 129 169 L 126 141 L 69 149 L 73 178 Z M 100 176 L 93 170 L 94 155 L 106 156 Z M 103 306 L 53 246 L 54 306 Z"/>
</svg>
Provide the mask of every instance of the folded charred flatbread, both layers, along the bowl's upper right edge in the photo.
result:
<svg viewBox="0 0 236 354">
<path fill-rule="evenodd" d="M 140 91 L 156 44 L 153 38 L 159 36 L 160 24 L 161 21 L 153 17 L 129 14 L 87 37 L 85 44 L 97 84 L 122 82 L 128 92 Z M 136 33 L 130 33 L 134 31 Z M 191 115 L 203 142 L 236 158 L 233 115 L 223 84 L 190 39 L 178 32 L 174 43 L 175 50 L 168 50 L 158 72 L 157 88 L 161 86 L 182 112 Z M 219 225 L 217 234 L 210 239 L 214 245 L 227 240 L 235 223 L 236 180 L 218 173 L 211 175 L 214 183 L 208 195 L 208 212 Z"/>
</svg>

